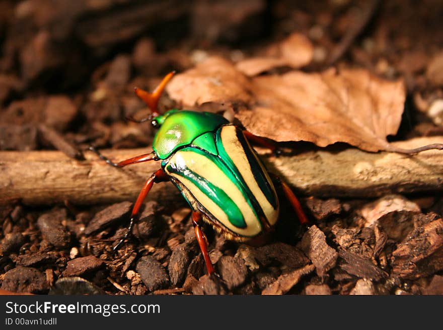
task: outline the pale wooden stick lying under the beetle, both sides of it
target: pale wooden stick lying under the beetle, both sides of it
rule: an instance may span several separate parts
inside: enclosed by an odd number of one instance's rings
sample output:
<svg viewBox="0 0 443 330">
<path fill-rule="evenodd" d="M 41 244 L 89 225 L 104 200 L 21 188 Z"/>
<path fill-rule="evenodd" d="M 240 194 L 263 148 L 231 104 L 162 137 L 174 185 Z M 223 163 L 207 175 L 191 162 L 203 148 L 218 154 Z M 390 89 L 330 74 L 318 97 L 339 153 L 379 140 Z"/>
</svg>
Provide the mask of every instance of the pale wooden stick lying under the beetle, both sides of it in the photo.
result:
<svg viewBox="0 0 443 330">
<path fill-rule="evenodd" d="M 393 145 L 412 149 L 438 141 L 443 137 Z M 117 161 L 149 151 L 104 150 L 103 154 Z M 0 203 L 17 199 L 27 204 L 133 201 L 145 179 L 160 168 L 160 163 L 153 161 L 117 169 L 92 152 L 86 152 L 85 157 L 85 161 L 73 160 L 58 151 L 0 152 Z M 266 154 L 262 159 L 271 172 L 305 195 L 372 197 L 443 190 L 443 151 L 402 155 L 355 148 L 339 152 L 319 149 L 296 156 Z M 172 184 L 160 183 L 148 198 L 172 200 L 179 198 L 179 193 Z"/>
</svg>

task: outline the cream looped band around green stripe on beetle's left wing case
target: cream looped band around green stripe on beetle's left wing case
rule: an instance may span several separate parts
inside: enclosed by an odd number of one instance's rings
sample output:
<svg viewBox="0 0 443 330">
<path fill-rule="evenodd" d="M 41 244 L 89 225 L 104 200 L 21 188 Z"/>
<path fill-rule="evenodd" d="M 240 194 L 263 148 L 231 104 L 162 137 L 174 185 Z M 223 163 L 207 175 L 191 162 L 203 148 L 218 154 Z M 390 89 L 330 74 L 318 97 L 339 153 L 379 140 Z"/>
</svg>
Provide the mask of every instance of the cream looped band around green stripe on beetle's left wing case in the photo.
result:
<svg viewBox="0 0 443 330">
<path fill-rule="evenodd" d="M 254 211 L 246 201 L 242 191 L 221 171 L 212 161 L 205 156 L 192 151 L 177 151 L 169 161 L 169 164 L 186 164 L 191 171 L 198 173 L 201 177 L 212 182 L 218 188 L 224 190 L 234 200 L 241 210 L 246 228 L 237 228 L 231 224 L 227 214 L 223 209 L 216 205 L 210 197 L 202 192 L 194 183 L 184 176 L 170 173 L 169 175 L 180 181 L 189 192 L 205 207 L 218 221 L 236 234 L 243 236 L 255 236 L 261 232 L 260 222 L 258 221 Z"/>
</svg>

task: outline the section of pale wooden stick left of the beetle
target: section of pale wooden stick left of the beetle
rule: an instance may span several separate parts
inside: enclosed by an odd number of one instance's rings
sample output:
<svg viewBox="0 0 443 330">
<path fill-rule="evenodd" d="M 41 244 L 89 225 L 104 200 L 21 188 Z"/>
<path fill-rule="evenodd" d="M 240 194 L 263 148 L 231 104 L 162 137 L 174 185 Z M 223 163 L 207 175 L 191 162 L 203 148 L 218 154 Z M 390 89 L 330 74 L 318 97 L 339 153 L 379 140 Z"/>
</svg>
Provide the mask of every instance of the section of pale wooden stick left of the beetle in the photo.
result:
<svg viewBox="0 0 443 330">
<path fill-rule="evenodd" d="M 122 160 L 146 150 L 108 150 L 103 154 Z M 92 152 L 86 152 L 85 157 L 79 161 L 59 151 L 0 152 L 0 203 L 17 199 L 26 204 L 132 201 L 146 178 L 160 168 L 157 162 L 147 162 L 118 169 Z M 176 190 L 170 184 L 157 184 L 150 198 L 177 198 Z"/>
</svg>

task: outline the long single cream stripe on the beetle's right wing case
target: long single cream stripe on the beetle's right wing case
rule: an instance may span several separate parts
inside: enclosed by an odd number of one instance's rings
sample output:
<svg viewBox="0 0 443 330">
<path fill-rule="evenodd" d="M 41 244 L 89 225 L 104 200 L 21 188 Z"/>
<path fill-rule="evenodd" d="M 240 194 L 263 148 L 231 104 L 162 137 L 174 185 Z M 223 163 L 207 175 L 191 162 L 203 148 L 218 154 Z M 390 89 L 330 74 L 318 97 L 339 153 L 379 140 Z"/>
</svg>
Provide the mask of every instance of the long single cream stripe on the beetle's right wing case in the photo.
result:
<svg viewBox="0 0 443 330">
<path fill-rule="evenodd" d="M 236 127 L 233 125 L 223 127 L 223 129 L 220 132 L 220 138 L 226 153 L 229 155 L 229 157 L 231 157 L 234 164 L 236 164 L 237 169 L 239 170 L 240 174 L 242 175 L 249 189 L 254 194 L 255 198 L 260 204 L 269 224 L 270 225 L 275 224 L 278 218 L 278 207 L 274 209 L 274 207 L 272 207 L 272 205 L 269 203 L 266 196 L 263 194 L 263 191 L 260 189 L 257 180 L 255 179 L 254 174 L 251 171 L 248 158 L 246 157 L 246 154 L 243 151 L 243 146 L 241 145 L 239 139 L 237 138 Z M 251 146 L 249 147 L 251 148 Z M 251 152 L 254 153 L 252 150 Z M 268 182 L 271 182 L 266 170 L 263 168 L 261 164 L 261 161 L 257 159 L 257 162 L 259 163 Z M 275 200 L 277 201 L 278 199 L 275 198 Z"/>
</svg>

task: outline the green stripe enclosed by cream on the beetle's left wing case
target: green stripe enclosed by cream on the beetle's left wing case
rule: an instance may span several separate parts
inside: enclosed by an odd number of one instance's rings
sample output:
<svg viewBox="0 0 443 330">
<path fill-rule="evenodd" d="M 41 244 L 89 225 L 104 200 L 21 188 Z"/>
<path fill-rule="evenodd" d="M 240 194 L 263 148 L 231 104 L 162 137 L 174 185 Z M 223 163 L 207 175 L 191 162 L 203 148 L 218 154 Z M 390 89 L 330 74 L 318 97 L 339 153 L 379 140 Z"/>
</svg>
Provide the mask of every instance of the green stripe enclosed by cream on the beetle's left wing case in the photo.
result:
<svg viewBox="0 0 443 330">
<path fill-rule="evenodd" d="M 197 152 L 198 149 L 193 151 Z M 203 153 L 203 152 L 202 152 Z M 209 157 L 208 157 L 209 158 Z M 228 215 L 229 221 L 237 228 L 244 229 L 247 227 L 243 214 L 237 204 L 229 197 L 229 195 L 219 187 L 215 186 L 202 176 L 198 175 L 186 165 L 183 168 L 176 168 L 172 164 L 168 164 L 166 170 L 170 173 L 177 174 L 188 180 L 197 186 L 204 193 L 207 193 L 208 197 L 220 207 L 226 215 Z"/>
</svg>

